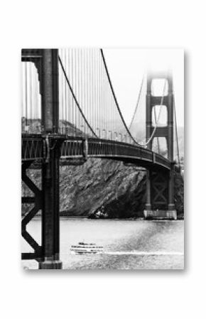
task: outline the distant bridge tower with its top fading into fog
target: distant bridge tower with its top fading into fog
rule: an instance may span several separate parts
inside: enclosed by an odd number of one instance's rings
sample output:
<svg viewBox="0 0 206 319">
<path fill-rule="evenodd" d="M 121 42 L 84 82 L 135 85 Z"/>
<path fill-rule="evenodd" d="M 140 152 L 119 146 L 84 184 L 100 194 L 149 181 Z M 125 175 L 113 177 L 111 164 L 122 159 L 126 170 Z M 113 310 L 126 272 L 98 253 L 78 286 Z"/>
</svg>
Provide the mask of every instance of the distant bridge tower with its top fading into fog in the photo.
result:
<svg viewBox="0 0 206 319">
<path fill-rule="evenodd" d="M 152 82 L 156 79 L 165 80 L 165 94 L 156 96 L 152 94 Z M 158 106 L 167 109 L 167 124 L 158 126 L 154 131 L 153 108 Z M 154 132 L 154 133 L 153 133 Z M 146 139 L 149 141 L 148 148 L 153 149 L 153 141 L 155 138 L 163 137 L 166 139 L 168 160 L 171 163 L 170 171 L 147 171 L 147 196 L 146 209 L 144 216 L 156 219 L 168 218 L 176 219 L 177 212 L 174 204 L 174 159 L 173 159 L 173 77 L 168 73 L 149 74 L 147 77 L 146 92 Z M 150 140 L 149 140 L 150 139 Z M 155 156 L 154 156 L 155 161 Z"/>
</svg>

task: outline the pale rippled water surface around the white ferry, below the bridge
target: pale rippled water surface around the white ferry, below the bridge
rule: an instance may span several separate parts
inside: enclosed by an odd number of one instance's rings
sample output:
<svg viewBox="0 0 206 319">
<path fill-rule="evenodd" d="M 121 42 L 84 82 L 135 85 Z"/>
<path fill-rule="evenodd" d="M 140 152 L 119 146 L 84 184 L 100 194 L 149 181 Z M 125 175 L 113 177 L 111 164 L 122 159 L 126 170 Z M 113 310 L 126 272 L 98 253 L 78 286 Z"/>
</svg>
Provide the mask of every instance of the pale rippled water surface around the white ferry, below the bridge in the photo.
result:
<svg viewBox="0 0 206 319">
<path fill-rule="evenodd" d="M 40 243 L 40 218 L 28 232 Z M 72 255 L 70 246 L 94 242 L 104 254 Z M 22 242 L 22 252 L 32 249 Z M 184 222 L 146 220 L 60 220 L 60 259 L 63 269 L 183 269 Z M 22 261 L 24 269 L 38 269 L 36 261 Z"/>
</svg>

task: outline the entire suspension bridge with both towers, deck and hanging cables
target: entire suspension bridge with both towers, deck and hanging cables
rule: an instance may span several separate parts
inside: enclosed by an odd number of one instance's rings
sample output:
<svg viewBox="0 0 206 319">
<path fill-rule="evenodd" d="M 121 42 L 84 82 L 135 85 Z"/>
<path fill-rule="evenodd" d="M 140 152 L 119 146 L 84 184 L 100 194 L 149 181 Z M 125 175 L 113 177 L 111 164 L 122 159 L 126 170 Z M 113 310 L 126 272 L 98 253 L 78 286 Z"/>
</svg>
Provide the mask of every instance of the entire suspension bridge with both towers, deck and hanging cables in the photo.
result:
<svg viewBox="0 0 206 319">
<path fill-rule="evenodd" d="M 121 113 L 102 49 L 23 49 L 22 181 L 33 193 L 23 217 L 22 236 L 33 249 L 22 259 L 36 259 L 40 269 L 61 269 L 59 167 L 83 165 L 87 158 L 106 158 L 147 170 L 144 215 L 176 219 L 174 141 L 178 154 L 173 77 L 170 72 L 143 77 L 134 115 L 128 126 Z M 163 80 L 162 93 L 153 81 Z M 146 113 L 146 136 L 133 134 L 140 100 Z M 159 108 L 157 114 L 156 107 Z M 163 107 L 166 124 L 158 125 Z M 174 139 L 176 136 L 176 139 Z M 166 139 L 166 153 L 159 139 Z M 154 141 L 156 142 L 156 146 Z M 40 188 L 27 175 L 41 171 Z M 41 210 L 41 243 L 28 233 L 28 223 Z"/>
</svg>

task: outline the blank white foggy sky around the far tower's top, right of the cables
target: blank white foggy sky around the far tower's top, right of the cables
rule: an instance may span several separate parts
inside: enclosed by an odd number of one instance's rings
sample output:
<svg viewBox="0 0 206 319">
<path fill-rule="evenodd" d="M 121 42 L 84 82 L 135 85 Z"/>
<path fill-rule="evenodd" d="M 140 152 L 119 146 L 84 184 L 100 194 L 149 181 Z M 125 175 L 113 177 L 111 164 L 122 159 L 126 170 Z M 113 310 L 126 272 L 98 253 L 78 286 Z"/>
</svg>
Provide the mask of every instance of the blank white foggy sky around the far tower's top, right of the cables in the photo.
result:
<svg viewBox="0 0 206 319">
<path fill-rule="evenodd" d="M 103 48 L 109 74 L 126 123 L 147 70 L 172 70 L 178 126 L 184 126 L 184 51 L 182 49 Z"/>
</svg>

